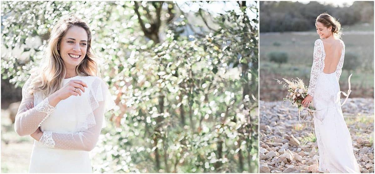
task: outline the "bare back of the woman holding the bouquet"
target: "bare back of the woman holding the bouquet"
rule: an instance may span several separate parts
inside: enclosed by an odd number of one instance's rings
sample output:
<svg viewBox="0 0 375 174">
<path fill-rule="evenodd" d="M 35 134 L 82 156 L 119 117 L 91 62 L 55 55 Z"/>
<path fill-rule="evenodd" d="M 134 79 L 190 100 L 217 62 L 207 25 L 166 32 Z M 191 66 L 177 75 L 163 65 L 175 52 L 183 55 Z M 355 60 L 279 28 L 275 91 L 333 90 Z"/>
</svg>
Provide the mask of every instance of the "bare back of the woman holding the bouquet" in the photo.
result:
<svg viewBox="0 0 375 174">
<path fill-rule="evenodd" d="M 341 53 L 344 49 L 344 45 L 341 44 L 340 40 L 323 41 L 324 52 L 326 58 L 324 59 L 323 73 L 331 74 L 336 71 L 337 65 L 341 59 Z"/>
</svg>

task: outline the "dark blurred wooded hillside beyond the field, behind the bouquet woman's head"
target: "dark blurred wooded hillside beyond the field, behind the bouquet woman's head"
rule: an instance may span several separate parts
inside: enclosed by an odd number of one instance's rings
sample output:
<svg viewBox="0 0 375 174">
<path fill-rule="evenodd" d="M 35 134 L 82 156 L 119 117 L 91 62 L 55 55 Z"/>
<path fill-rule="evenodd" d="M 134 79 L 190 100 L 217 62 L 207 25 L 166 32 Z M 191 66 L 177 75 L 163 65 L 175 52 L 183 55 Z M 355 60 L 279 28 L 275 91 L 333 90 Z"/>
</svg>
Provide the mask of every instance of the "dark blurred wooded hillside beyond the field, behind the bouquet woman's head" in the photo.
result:
<svg viewBox="0 0 375 174">
<path fill-rule="evenodd" d="M 320 2 L 260 2 L 260 32 L 285 32 L 315 30 L 319 14 L 328 12 L 342 25 L 374 24 L 374 2 L 355 1 L 351 6 L 334 7 Z"/>
</svg>

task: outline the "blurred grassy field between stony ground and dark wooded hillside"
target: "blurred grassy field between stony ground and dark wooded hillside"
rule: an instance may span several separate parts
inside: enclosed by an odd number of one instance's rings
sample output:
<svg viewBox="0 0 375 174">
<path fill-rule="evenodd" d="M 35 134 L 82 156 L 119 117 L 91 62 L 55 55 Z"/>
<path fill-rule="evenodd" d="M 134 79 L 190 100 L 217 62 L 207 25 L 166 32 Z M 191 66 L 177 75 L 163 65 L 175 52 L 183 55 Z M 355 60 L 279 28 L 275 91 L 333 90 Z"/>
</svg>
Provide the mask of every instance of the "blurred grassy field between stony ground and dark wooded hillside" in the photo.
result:
<svg viewBox="0 0 375 174">
<path fill-rule="evenodd" d="M 341 91 L 348 89 L 348 76 L 351 78 L 351 97 L 372 98 L 374 96 L 374 27 L 372 24 L 344 26 L 342 40 L 345 43 L 344 67 L 355 70 L 343 70 L 340 78 Z M 276 80 L 296 78 L 309 83 L 314 42 L 318 38 L 315 31 L 260 33 L 260 100 L 282 100 L 286 90 Z M 287 54 L 283 64 L 270 62 L 270 53 L 279 51 Z M 354 54 L 355 56 L 350 56 Z M 354 65 L 350 59 L 357 59 Z"/>
</svg>

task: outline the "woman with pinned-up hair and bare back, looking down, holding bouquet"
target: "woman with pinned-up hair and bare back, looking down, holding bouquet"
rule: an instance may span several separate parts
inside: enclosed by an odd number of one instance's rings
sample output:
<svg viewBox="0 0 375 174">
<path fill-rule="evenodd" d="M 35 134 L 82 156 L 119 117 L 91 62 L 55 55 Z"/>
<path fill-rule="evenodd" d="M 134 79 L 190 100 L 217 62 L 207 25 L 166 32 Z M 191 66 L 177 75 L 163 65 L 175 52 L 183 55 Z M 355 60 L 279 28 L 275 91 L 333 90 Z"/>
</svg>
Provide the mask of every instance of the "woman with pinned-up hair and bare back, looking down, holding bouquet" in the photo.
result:
<svg viewBox="0 0 375 174">
<path fill-rule="evenodd" d="M 320 39 L 315 41 L 308 96 L 302 104 L 308 107 L 312 101 L 317 109 L 314 126 L 319 150 L 319 171 L 359 173 L 338 95 L 345 55 L 345 44 L 340 39 L 341 24 L 331 15 L 323 13 L 317 17 L 315 26 Z"/>
</svg>

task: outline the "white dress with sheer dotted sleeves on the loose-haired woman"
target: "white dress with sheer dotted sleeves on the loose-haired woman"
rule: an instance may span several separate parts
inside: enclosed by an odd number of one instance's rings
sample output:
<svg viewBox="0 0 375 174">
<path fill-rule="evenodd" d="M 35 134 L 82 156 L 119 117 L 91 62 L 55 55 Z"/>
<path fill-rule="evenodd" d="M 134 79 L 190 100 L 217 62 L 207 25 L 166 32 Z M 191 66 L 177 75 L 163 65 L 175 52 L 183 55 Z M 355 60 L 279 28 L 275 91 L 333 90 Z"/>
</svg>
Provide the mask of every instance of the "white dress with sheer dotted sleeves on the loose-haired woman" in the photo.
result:
<svg viewBox="0 0 375 174">
<path fill-rule="evenodd" d="M 15 121 L 19 135 L 30 135 L 38 127 L 43 132 L 40 141 L 34 141 L 29 172 L 69 173 L 92 172 L 89 151 L 98 141 L 104 113 L 115 106 L 107 85 L 99 77 L 75 76 L 63 80 L 82 80 L 88 88 L 81 96 L 70 96 L 56 107 L 40 93 L 28 93 L 30 78 L 22 89 L 22 101 Z M 34 102 L 27 110 L 26 104 Z"/>
</svg>

